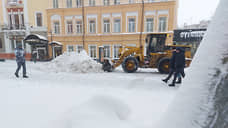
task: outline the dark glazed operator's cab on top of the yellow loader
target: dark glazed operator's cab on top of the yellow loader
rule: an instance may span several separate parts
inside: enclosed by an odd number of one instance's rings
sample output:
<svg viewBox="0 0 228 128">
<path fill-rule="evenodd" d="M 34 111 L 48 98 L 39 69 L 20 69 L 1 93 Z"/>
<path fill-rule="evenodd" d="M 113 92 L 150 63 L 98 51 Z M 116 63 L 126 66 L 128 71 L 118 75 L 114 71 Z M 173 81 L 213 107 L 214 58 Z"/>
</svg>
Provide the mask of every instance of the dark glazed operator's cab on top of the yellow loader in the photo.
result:
<svg viewBox="0 0 228 128">
<path fill-rule="evenodd" d="M 146 54 L 164 52 L 167 34 L 148 34 L 146 37 Z"/>
</svg>

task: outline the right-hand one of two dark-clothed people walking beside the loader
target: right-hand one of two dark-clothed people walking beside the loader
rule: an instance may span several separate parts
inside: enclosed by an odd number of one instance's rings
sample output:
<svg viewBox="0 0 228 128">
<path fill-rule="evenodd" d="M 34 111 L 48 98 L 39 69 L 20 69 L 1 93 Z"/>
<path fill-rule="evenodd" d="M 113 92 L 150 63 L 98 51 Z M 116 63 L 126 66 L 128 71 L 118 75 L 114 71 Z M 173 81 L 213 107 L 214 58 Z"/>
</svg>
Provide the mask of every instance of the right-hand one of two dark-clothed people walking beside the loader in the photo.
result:
<svg viewBox="0 0 228 128">
<path fill-rule="evenodd" d="M 185 73 L 184 73 L 185 54 L 184 54 L 184 50 L 181 48 L 176 49 L 174 67 L 175 67 L 174 79 L 172 84 L 169 84 L 169 86 L 175 86 L 175 82 L 179 74 L 181 74 L 182 77 L 185 77 Z"/>
</svg>

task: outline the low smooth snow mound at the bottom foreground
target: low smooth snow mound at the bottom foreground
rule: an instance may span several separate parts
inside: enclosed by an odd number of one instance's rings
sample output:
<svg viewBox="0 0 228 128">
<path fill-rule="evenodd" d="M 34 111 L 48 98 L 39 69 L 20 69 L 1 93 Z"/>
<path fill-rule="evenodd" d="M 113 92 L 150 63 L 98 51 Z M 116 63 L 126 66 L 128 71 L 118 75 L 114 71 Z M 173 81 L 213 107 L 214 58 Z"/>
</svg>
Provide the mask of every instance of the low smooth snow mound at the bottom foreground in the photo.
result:
<svg viewBox="0 0 228 128">
<path fill-rule="evenodd" d="M 127 119 L 129 107 L 120 99 L 94 96 L 72 108 L 64 118 L 54 123 L 54 128 L 132 128 Z"/>
</svg>

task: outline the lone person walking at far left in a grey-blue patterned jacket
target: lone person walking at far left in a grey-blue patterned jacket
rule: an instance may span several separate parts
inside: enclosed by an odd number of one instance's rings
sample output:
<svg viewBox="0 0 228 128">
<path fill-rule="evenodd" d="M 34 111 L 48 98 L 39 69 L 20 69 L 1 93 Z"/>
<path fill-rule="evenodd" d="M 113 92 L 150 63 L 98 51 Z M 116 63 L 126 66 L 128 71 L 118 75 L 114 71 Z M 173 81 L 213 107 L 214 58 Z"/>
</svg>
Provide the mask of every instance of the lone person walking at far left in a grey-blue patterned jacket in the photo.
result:
<svg viewBox="0 0 228 128">
<path fill-rule="evenodd" d="M 15 49 L 15 56 L 16 56 L 16 62 L 17 62 L 17 69 L 15 72 L 15 76 L 19 77 L 18 72 L 22 66 L 23 67 L 23 78 L 28 78 L 28 76 L 26 75 L 25 51 L 21 45 L 18 45 L 18 47 Z"/>
</svg>

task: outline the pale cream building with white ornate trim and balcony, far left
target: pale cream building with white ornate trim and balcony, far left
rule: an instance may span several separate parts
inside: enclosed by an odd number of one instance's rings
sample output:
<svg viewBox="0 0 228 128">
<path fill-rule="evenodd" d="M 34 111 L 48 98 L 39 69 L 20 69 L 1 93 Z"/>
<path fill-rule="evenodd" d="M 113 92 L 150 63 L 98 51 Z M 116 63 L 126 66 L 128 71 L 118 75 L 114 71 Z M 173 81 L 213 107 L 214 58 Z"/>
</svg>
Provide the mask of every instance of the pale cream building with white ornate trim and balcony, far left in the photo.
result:
<svg viewBox="0 0 228 128">
<path fill-rule="evenodd" d="M 0 0 L 0 58 L 15 58 L 17 45 L 31 57 L 32 47 L 23 40 L 30 34 L 47 38 L 47 8 L 47 0 Z M 43 52 L 47 50 L 40 48 L 39 53 Z"/>
</svg>

